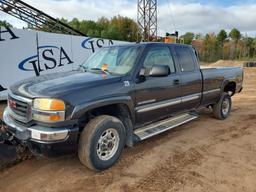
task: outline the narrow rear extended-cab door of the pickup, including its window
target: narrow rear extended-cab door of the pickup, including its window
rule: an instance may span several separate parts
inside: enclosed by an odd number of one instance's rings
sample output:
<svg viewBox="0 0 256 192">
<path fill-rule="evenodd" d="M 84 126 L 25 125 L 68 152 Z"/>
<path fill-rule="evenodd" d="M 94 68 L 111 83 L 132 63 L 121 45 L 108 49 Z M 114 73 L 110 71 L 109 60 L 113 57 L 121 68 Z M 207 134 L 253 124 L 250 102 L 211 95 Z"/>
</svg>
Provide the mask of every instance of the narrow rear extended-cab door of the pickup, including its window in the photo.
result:
<svg viewBox="0 0 256 192">
<path fill-rule="evenodd" d="M 176 59 L 181 74 L 182 110 L 199 107 L 202 93 L 202 75 L 195 50 L 188 46 L 175 46 Z"/>
</svg>

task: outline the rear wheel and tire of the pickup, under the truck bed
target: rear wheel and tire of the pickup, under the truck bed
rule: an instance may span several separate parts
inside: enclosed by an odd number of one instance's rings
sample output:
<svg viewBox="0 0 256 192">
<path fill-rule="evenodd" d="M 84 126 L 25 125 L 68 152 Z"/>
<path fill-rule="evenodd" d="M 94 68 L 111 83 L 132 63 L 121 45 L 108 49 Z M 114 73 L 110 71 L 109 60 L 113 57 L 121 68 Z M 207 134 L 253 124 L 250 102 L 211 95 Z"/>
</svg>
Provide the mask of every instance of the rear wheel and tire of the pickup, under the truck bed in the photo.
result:
<svg viewBox="0 0 256 192">
<path fill-rule="evenodd" d="M 213 105 L 213 116 L 216 119 L 224 120 L 226 119 L 231 111 L 232 100 L 231 96 L 224 92 L 221 94 L 220 100 L 218 103 Z"/>
</svg>

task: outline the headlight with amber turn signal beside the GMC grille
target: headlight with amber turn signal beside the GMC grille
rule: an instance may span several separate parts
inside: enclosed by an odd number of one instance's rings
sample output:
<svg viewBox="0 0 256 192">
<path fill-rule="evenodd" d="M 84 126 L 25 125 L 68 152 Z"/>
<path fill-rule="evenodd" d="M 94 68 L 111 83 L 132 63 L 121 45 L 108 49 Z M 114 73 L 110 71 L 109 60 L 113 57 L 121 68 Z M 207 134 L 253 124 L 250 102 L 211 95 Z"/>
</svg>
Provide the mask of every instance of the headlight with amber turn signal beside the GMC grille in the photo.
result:
<svg viewBox="0 0 256 192">
<path fill-rule="evenodd" d="M 65 120 L 65 103 L 59 99 L 35 99 L 32 118 L 37 121 L 51 123 Z"/>
</svg>

